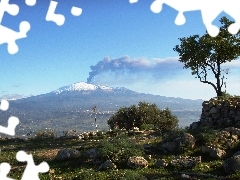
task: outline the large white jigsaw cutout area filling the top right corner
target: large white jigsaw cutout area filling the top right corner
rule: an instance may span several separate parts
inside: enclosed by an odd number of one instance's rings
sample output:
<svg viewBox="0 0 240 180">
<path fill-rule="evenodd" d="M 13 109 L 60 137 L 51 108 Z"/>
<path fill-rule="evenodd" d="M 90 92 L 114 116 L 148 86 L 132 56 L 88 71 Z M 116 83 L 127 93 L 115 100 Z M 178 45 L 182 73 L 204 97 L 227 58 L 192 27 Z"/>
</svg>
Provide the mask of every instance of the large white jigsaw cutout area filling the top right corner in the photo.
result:
<svg viewBox="0 0 240 180">
<path fill-rule="evenodd" d="M 138 0 L 129 0 L 131 4 L 136 2 L 138 2 Z M 212 37 L 216 37 L 219 34 L 219 28 L 212 23 L 222 12 L 227 13 L 235 20 L 235 22 L 228 27 L 230 34 L 237 34 L 240 29 L 240 9 L 237 8 L 240 7 L 239 0 L 154 0 L 150 9 L 153 13 L 160 13 L 163 4 L 178 11 L 175 19 L 176 25 L 185 24 L 186 18 L 183 14 L 184 12 L 200 10 L 203 24 L 208 34 Z"/>
</svg>

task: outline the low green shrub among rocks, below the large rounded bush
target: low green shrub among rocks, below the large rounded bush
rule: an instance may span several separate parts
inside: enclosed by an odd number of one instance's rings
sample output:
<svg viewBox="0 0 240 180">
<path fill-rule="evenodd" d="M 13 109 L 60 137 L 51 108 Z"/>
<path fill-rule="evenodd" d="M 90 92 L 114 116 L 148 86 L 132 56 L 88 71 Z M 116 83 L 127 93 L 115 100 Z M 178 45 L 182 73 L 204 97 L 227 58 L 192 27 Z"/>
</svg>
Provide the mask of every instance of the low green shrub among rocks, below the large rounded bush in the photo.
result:
<svg viewBox="0 0 240 180">
<path fill-rule="evenodd" d="M 120 135 L 114 139 L 100 142 L 100 156 L 103 159 L 111 159 L 115 163 L 126 163 L 131 156 L 142 156 L 143 147 L 137 145 L 126 135 Z"/>
</svg>

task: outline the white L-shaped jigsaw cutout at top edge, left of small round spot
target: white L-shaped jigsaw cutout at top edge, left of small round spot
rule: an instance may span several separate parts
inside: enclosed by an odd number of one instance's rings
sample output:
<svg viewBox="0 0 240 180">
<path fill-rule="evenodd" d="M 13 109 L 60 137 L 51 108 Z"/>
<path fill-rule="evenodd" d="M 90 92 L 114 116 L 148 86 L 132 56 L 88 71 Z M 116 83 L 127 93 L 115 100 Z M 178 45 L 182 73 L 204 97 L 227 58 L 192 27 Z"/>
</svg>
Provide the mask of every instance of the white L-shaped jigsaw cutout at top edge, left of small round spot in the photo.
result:
<svg viewBox="0 0 240 180">
<path fill-rule="evenodd" d="M 62 14 L 55 14 L 55 9 L 57 7 L 58 2 L 50 1 L 50 5 L 48 7 L 48 12 L 46 15 L 46 21 L 53 21 L 58 26 L 62 26 L 65 22 L 65 17 Z"/>
</svg>

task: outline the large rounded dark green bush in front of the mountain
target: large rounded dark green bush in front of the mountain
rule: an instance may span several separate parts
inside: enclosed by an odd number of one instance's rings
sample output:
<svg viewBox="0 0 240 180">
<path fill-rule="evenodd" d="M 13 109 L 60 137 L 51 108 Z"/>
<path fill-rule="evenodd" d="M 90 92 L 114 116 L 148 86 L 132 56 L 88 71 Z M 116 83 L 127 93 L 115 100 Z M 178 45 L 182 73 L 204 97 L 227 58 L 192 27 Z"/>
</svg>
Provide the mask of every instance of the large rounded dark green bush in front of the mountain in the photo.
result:
<svg viewBox="0 0 240 180">
<path fill-rule="evenodd" d="M 155 129 L 167 130 L 176 128 L 178 119 L 168 108 L 160 110 L 156 104 L 139 102 L 137 106 L 120 108 L 110 117 L 108 125 L 111 129 L 125 128 L 127 130 L 133 127 L 142 128 L 144 125 L 145 127 L 154 125 Z"/>
</svg>

